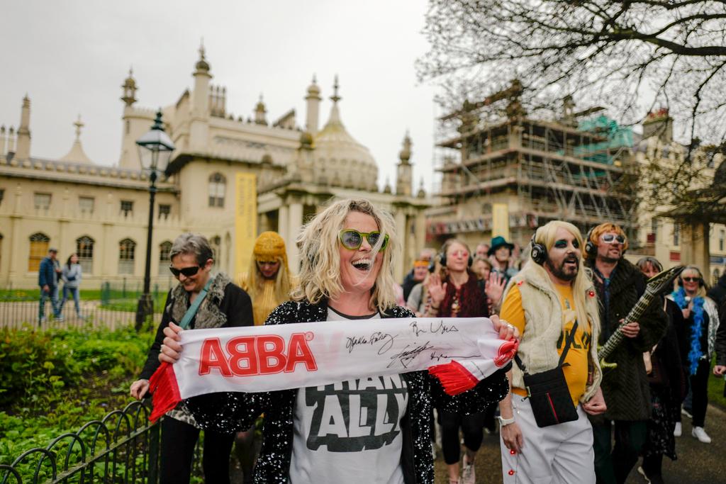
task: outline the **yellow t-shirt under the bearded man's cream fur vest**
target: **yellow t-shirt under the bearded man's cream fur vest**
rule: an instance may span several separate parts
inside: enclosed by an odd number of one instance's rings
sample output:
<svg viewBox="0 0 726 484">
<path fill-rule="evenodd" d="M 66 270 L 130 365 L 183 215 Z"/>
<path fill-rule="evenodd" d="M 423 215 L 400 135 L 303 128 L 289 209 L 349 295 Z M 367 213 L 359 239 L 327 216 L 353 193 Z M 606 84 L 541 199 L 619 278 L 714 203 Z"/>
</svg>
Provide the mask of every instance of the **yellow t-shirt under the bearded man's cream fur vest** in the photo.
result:
<svg viewBox="0 0 726 484">
<path fill-rule="evenodd" d="M 560 295 L 560 304 L 562 305 L 563 312 L 564 331 L 560 333 L 560 339 L 557 342 L 557 350 L 561 355 L 562 350 L 565 348 L 567 337 L 570 335 L 577 319 L 577 313 L 575 312 L 575 302 L 572 297 L 572 287 L 569 284 L 555 284 L 555 288 Z M 499 317 L 517 327 L 521 335 L 526 332 L 522 295 L 519 292 L 519 287 L 513 286 L 509 290 L 507 298 L 502 303 L 502 311 L 499 313 Z M 587 386 L 587 358 L 590 354 L 591 344 L 592 329 L 590 328 L 590 324 L 578 323 L 574 340 L 572 340 L 570 349 L 565 357 L 565 363 L 568 363 L 568 365 L 563 366 L 565 380 L 567 380 L 572 402 L 575 405 L 579 403 L 579 399 L 584 394 L 585 387 Z M 513 387 L 512 391 L 517 395 L 527 395 L 527 390 L 524 388 Z"/>
</svg>

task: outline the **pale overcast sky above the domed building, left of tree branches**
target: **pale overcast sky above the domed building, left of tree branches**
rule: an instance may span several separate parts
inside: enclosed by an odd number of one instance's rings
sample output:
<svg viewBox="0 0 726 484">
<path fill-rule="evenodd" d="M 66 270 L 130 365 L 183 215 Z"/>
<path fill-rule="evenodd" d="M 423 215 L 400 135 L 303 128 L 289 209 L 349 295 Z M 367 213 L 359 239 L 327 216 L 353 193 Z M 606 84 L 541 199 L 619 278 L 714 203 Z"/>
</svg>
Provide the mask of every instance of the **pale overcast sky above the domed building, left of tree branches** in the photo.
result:
<svg viewBox="0 0 726 484">
<path fill-rule="evenodd" d="M 290 108 L 304 126 L 306 88 L 317 75 L 320 124 L 340 77 L 340 115 L 379 167 L 395 180 L 406 130 L 413 141 L 415 189 L 433 179 L 435 89 L 416 81 L 428 50 L 425 0 L 3 2 L 0 15 L 0 124 L 16 126 L 31 101 L 30 152 L 58 158 L 83 123 L 83 147 L 99 165 L 118 163 L 121 83 L 134 68 L 136 103 L 159 107 L 192 87 L 204 38 L 212 83 L 227 86 L 227 112 L 253 114 L 260 94 L 268 120 Z"/>
</svg>

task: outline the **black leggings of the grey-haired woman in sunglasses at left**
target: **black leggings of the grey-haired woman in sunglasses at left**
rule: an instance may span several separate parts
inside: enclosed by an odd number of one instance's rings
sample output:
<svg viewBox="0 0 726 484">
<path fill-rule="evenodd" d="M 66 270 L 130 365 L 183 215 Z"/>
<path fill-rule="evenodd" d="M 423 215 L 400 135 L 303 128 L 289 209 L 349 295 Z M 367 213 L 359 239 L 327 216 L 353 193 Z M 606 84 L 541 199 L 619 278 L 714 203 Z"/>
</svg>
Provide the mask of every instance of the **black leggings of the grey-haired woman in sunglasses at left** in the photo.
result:
<svg viewBox="0 0 726 484">
<path fill-rule="evenodd" d="M 189 483 L 199 429 L 171 417 L 161 422 L 161 484 Z M 202 468 L 207 483 L 229 484 L 229 453 L 234 434 L 205 430 Z"/>
</svg>

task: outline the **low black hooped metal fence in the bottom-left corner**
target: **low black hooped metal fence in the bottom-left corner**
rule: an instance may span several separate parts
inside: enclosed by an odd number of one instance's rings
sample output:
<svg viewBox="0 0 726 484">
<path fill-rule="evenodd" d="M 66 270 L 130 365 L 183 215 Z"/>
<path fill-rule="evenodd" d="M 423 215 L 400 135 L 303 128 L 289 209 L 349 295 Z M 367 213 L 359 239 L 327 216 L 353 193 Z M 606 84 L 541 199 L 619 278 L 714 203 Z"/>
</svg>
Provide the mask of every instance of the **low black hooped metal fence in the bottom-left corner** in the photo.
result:
<svg viewBox="0 0 726 484">
<path fill-rule="evenodd" d="M 0 484 L 158 482 L 160 425 L 132 402 L 0 464 Z"/>
</svg>

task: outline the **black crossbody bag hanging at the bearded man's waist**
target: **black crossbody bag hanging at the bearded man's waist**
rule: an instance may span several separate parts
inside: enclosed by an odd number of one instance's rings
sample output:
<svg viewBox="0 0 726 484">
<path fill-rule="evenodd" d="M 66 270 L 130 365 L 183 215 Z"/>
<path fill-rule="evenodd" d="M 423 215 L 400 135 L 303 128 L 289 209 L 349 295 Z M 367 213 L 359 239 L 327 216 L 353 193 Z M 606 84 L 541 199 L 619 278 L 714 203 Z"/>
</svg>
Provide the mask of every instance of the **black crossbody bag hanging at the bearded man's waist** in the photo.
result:
<svg viewBox="0 0 726 484">
<path fill-rule="evenodd" d="M 572 330 L 560 355 L 557 368 L 542 373 L 529 374 L 519 356 L 514 357 L 517 366 L 524 372 L 524 386 L 527 390 L 527 398 L 531 403 L 532 413 L 534 413 L 534 419 L 537 421 L 538 427 L 549 427 L 550 425 L 572 422 L 579 417 L 576 406 L 572 404 L 570 389 L 567 386 L 565 373 L 563 372 L 563 366 L 568 365 L 565 363 L 565 357 L 572 341 L 575 339 L 576 329 L 577 321 L 572 325 Z"/>
</svg>

